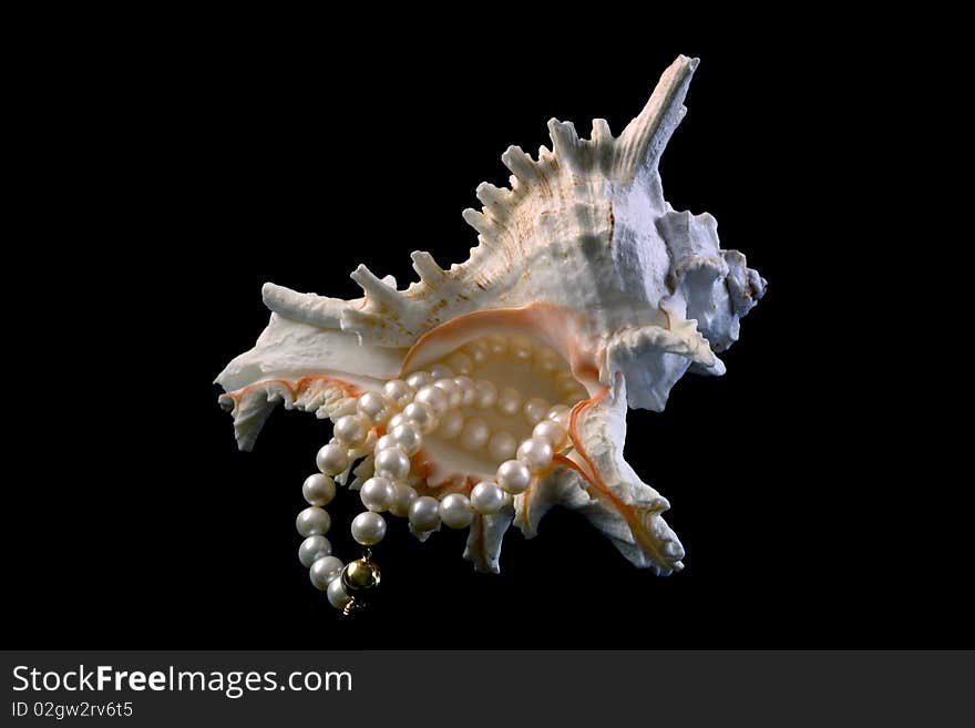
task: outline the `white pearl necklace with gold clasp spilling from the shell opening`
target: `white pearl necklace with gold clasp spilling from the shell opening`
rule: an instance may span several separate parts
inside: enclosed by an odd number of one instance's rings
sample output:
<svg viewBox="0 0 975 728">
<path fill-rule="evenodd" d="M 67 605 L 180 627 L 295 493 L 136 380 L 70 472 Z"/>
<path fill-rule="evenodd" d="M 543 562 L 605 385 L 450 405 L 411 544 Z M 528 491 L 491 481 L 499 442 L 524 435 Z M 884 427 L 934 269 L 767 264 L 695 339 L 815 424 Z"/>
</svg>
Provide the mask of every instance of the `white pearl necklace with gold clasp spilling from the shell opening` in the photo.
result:
<svg viewBox="0 0 975 728">
<path fill-rule="evenodd" d="M 458 368 L 462 371 L 468 369 L 463 361 L 451 363 L 461 365 Z M 532 434 L 515 447 L 511 433 L 492 434 L 481 418 L 472 417 L 465 422 L 459 411 L 461 407 L 496 408 L 507 416 L 521 410 L 534 425 Z M 309 570 L 311 583 L 325 591 L 329 603 L 343 614 L 362 606 L 380 582 L 371 547 L 386 536 L 382 513 L 408 517 L 411 530 L 421 540 L 441 523 L 450 529 L 464 529 L 475 513 L 499 513 L 514 495 L 523 493 L 540 474 L 552 468 L 556 452 L 571 445 L 568 412 L 566 406 L 550 407 L 542 398 L 523 401 L 520 392 L 512 388 L 499 392 L 488 380 L 474 381 L 465 375 L 454 377 L 444 365 L 413 372 L 406 380 L 387 381 L 381 394 L 363 393 L 357 402 L 356 414 L 336 420 L 332 440 L 316 457 L 320 472 L 309 475 L 301 486 L 308 507 L 296 521 L 298 533 L 305 536 L 298 558 Z M 380 430 L 384 434 L 376 438 Z M 440 499 L 419 495 L 408 483 L 410 458 L 423 447 L 423 438 L 434 430 L 443 439 L 458 439 L 465 450 L 486 447 L 493 458 L 503 460 L 494 480 L 479 482 L 471 489 L 470 496 L 463 493 L 449 493 Z M 335 478 L 347 473 L 357 459 L 370 452 L 374 474 L 359 490 L 367 510 L 351 524 L 352 539 L 363 546 L 363 555 L 343 564 L 332 555 L 326 537 L 331 517 L 325 506 L 336 495 Z"/>
</svg>

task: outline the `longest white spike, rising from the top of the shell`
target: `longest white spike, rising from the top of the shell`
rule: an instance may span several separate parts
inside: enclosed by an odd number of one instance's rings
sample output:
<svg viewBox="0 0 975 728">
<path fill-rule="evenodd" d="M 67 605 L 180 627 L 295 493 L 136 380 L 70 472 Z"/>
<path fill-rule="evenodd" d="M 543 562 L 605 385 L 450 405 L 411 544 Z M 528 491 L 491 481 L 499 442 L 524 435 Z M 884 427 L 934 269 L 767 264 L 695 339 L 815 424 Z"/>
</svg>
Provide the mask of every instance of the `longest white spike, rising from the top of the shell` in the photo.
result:
<svg viewBox="0 0 975 728">
<path fill-rule="evenodd" d="M 656 168 L 670 134 L 686 109 L 684 98 L 698 59 L 678 55 L 670 64 L 639 115 L 619 135 L 616 143 L 617 180 L 632 180 L 640 167 Z"/>
</svg>

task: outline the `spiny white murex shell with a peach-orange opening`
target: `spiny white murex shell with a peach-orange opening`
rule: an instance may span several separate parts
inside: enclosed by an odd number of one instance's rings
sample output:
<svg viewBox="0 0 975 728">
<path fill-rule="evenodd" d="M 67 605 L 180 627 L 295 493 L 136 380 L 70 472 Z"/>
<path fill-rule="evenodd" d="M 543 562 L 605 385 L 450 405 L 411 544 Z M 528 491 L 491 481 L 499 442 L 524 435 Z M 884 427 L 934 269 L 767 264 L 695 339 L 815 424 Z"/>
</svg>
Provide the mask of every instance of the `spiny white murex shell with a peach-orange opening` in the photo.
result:
<svg viewBox="0 0 975 728">
<path fill-rule="evenodd" d="M 239 448 L 252 448 L 278 401 L 338 420 L 389 380 L 458 377 L 462 419 L 448 425 L 444 416 L 410 457 L 404 482 L 420 495 L 469 495 L 494 480 L 540 418 L 567 430 L 525 490 L 509 490 L 495 513 L 473 513 L 464 555 L 476 568 L 497 572 L 507 527 L 533 536 L 553 505 L 582 512 L 637 566 L 682 568 L 660 515 L 668 502 L 623 459 L 627 406 L 660 411 L 686 371 L 723 373 L 717 353 L 766 287 L 742 254 L 720 248 L 714 217 L 664 199 L 658 162 L 697 63 L 679 57 L 616 139 L 601 119 L 589 140 L 553 119 L 553 148 L 537 161 L 510 147 L 511 188 L 481 184 L 481 212 L 463 213 L 479 233 L 464 263 L 444 270 L 414 252 L 420 279 L 404 290 L 359 266 L 351 277 L 365 296 L 353 300 L 266 284 L 270 322 L 216 380 Z M 365 459 L 337 478 L 353 489 L 373 475 L 371 447 L 386 433 L 384 421 L 367 424 L 368 440 L 349 452 L 350 463 Z"/>
</svg>

